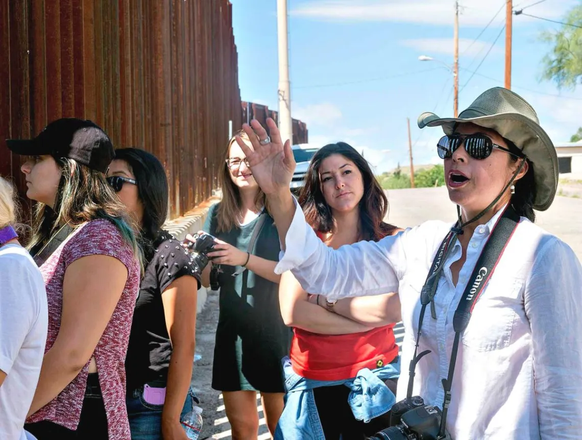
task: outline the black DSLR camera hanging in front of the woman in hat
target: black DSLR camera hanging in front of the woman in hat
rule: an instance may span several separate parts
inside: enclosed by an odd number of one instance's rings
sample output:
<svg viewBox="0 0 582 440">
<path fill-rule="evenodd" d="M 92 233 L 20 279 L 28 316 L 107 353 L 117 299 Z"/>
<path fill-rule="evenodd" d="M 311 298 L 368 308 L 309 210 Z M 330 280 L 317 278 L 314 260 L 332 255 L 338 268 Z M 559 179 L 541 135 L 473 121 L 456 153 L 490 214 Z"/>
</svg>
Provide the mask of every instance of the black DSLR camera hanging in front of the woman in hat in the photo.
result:
<svg viewBox="0 0 582 440">
<path fill-rule="evenodd" d="M 386 428 L 368 440 L 437 440 L 450 439 L 447 434 L 439 437 L 441 410 L 425 405 L 423 398 L 413 396 L 392 406 L 390 428 Z"/>
</svg>

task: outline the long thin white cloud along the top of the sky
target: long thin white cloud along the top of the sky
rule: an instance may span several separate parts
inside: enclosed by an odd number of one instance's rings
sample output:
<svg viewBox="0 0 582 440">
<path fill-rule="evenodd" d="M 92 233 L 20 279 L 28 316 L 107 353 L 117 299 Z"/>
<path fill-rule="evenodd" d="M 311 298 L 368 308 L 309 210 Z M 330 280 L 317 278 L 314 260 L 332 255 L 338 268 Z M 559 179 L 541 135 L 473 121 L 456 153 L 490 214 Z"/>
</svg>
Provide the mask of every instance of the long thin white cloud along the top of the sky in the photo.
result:
<svg viewBox="0 0 582 440">
<path fill-rule="evenodd" d="M 551 4 L 549 4 L 551 3 Z M 505 0 L 464 0 L 461 26 L 484 26 Z M 577 0 L 553 0 L 540 3 L 528 13 L 546 18 L 558 18 Z M 499 13 L 501 22 L 505 11 Z M 417 24 L 453 24 L 453 2 L 450 0 L 314 0 L 294 8 L 293 16 L 337 22 L 404 22 Z M 514 22 L 528 22 L 530 17 L 521 16 Z"/>
</svg>

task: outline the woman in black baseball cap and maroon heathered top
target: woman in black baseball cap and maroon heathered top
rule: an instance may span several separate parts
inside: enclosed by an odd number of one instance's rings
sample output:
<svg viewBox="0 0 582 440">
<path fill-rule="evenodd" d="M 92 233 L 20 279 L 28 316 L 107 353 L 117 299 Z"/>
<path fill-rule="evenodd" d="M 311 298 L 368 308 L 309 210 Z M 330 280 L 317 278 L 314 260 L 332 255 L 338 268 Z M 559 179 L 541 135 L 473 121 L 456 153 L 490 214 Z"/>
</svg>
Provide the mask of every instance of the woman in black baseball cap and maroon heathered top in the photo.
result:
<svg viewBox="0 0 582 440">
<path fill-rule="evenodd" d="M 38 439 L 130 439 L 124 361 L 140 279 L 125 207 L 105 180 L 107 134 L 64 118 L 31 140 L 21 169 L 37 201 L 29 250 L 48 298 L 48 337 L 27 431 Z"/>
</svg>

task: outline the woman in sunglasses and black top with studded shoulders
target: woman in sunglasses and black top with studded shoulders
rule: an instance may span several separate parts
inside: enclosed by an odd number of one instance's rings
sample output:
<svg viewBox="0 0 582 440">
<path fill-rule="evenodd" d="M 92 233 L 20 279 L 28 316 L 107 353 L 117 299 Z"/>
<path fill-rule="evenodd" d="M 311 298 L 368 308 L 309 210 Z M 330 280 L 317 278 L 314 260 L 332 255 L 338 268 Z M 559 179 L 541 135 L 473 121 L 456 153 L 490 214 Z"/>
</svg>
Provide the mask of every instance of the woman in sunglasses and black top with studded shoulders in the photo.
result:
<svg viewBox="0 0 582 440">
<path fill-rule="evenodd" d="M 141 226 L 144 276 L 125 361 L 127 414 L 134 440 L 187 440 L 180 416 L 196 399 L 190 388 L 199 282 L 190 256 L 162 229 L 168 179 L 152 154 L 115 150 L 107 181 Z"/>
</svg>

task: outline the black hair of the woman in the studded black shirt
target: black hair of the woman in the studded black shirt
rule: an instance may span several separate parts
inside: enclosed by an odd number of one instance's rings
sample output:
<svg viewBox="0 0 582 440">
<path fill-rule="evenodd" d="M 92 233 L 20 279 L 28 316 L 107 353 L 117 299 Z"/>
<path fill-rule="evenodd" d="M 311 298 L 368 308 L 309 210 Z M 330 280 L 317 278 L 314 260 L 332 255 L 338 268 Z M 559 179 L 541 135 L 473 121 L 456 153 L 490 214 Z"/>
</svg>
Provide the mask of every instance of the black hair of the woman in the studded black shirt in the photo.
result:
<svg viewBox="0 0 582 440">
<path fill-rule="evenodd" d="M 137 194 L 144 208 L 140 238 L 145 261 L 149 262 L 157 243 L 167 238 L 162 225 L 168 217 L 168 178 L 159 159 L 139 148 L 119 148 L 115 159 L 127 162 L 136 178 Z"/>
</svg>

